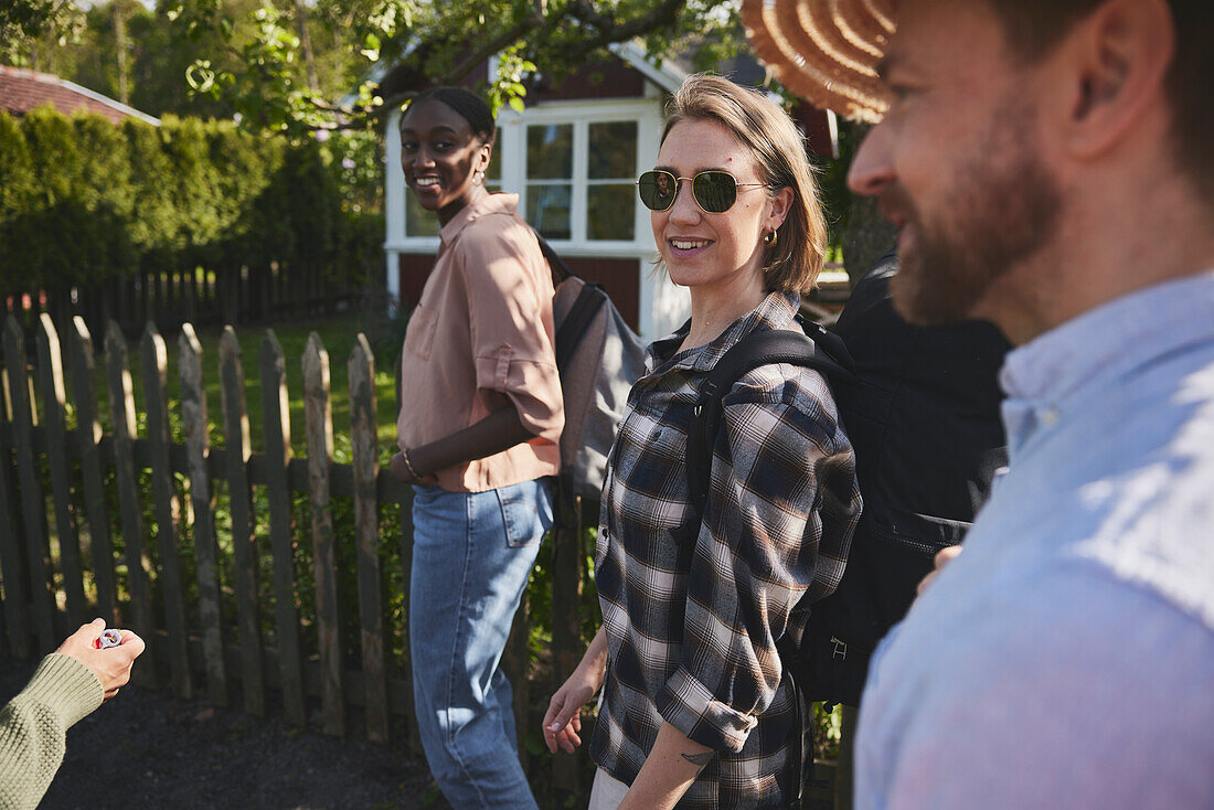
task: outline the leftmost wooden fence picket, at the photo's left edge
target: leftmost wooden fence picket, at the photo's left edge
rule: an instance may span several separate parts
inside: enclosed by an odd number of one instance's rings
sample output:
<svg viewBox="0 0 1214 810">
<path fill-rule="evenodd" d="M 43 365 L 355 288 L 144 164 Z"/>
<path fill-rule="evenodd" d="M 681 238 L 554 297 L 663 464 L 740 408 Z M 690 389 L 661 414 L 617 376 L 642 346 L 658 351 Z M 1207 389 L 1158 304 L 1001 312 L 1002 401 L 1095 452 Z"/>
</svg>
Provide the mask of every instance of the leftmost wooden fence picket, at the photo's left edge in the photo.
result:
<svg viewBox="0 0 1214 810">
<path fill-rule="evenodd" d="M 34 628 L 39 647 L 50 652 L 58 639 L 55 633 L 51 555 L 46 538 L 46 499 L 42 494 L 42 478 L 34 466 L 34 425 L 38 419 L 25 373 L 25 335 L 13 316 L 8 316 L 4 329 L 4 357 L 12 395 L 13 454 L 17 457 L 21 512 L 25 526 L 25 561 L 29 563 L 29 588 L 34 600 Z"/>
</svg>

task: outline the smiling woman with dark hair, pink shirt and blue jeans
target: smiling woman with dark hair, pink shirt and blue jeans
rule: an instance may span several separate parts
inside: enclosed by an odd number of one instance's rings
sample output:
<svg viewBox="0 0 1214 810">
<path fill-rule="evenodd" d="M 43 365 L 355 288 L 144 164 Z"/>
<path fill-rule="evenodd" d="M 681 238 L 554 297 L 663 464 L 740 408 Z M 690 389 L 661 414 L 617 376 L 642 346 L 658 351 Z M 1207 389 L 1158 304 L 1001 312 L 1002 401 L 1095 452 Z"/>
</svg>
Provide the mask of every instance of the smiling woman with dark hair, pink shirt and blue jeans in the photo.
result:
<svg viewBox="0 0 1214 810">
<path fill-rule="evenodd" d="M 438 87 L 401 119 L 401 168 L 441 247 L 401 359 L 401 452 L 414 487 L 409 640 L 426 760 L 455 808 L 535 808 L 498 668 L 540 538 L 565 418 L 552 278 L 517 196 L 490 194 L 494 124 Z"/>
</svg>

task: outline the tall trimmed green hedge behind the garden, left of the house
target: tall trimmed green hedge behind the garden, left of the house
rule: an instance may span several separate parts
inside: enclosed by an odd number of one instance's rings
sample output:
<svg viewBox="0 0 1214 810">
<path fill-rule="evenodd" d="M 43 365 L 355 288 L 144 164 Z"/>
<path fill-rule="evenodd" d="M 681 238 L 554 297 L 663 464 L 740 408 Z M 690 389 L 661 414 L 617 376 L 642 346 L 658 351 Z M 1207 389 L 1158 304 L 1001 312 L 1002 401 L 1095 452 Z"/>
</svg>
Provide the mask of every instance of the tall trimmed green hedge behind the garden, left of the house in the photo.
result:
<svg viewBox="0 0 1214 810">
<path fill-rule="evenodd" d="M 345 187 L 335 147 L 191 118 L 0 113 L 0 294 L 199 266 L 357 278 L 382 215 L 348 204 L 365 189 Z"/>
</svg>

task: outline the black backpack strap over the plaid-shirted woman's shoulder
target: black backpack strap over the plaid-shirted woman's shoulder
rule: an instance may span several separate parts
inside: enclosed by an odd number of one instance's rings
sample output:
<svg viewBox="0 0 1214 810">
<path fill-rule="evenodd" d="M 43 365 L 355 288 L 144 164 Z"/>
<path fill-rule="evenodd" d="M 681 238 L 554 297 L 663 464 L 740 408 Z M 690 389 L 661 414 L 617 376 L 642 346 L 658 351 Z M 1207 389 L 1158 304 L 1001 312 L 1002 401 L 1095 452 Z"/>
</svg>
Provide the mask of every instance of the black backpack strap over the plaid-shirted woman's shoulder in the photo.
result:
<svg viewBox="0 0 1214 810">
<path fill-rule="evenodd" d="M 772 363 L 792 363 L 821 372 L 827 379 L 853 375 L 855 368 L 843 340 L 816 323 L 809 334 L 788 329 L 754 332 L 716 363 L 699 390 L 699 402 L 687 434 L 687 486 L 697 520 L 703 516 L 708 503 L 708 488 L 713 468 L 713 444 L 721 427 L 725 395 L 751 369 Z M 819 339 L 821 336 L 821 339 Z"/>
</svg>

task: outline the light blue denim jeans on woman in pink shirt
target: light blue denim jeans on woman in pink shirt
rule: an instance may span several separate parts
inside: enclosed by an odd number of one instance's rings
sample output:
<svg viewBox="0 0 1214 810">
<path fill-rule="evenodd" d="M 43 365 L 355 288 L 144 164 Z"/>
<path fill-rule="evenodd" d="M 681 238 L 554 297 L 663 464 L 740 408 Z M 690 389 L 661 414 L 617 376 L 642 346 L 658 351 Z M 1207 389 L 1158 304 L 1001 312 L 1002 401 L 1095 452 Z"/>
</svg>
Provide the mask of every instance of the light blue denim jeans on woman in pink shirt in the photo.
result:
<svg viewBox="0 0 1214 810">
<path fill-rule="evenodd" d="M 409 648 L 426 761 L 453 808 L 534 810 L 498 664 L 552 526 L 551 487 L 414 492 Z"/>
</svg>

